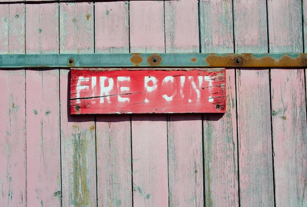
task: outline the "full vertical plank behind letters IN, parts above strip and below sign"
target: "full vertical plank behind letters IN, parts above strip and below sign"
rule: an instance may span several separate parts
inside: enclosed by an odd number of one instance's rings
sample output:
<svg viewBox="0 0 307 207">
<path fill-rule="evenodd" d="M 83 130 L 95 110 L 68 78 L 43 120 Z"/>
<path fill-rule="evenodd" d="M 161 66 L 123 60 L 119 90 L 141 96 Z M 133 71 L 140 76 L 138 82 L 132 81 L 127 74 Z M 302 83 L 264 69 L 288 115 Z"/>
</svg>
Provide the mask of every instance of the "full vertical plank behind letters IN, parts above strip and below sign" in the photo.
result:
<svg viewBox="0 0 307 207">
<path fill-rule="evenodd" d="M 199 52 L 198 1 L 165 1 L 166 52 Z M 204 206 L 202 115 L 168 115 L 170 206 Z"/>
</svg>

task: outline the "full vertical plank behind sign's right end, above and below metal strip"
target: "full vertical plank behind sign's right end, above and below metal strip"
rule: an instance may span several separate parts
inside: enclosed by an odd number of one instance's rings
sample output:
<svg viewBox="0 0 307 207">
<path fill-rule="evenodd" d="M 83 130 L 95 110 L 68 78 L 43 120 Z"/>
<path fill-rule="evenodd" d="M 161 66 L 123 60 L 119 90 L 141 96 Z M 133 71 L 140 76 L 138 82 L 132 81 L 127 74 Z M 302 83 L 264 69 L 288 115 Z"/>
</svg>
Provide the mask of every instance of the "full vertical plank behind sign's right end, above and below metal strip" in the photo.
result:
<svg viewBox="0 0 307 207">
<path fill-rule="evenodd" d="M 200 1 L 201 52 L 233 52 L 232 1 Z M 235 70 L 227 69 L 227 111 L 204 116 L 205 205 L 239 206 Z"/>
</svg>

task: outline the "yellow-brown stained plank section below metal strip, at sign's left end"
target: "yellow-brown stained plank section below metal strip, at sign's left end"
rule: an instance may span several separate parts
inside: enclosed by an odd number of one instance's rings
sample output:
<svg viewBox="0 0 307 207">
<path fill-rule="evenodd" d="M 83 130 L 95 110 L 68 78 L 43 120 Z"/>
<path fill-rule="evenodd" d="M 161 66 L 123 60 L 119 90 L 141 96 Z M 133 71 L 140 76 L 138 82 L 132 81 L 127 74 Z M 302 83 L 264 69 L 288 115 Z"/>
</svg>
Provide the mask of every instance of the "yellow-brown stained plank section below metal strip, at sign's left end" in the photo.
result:
<svg viewBox="0 0 307 207">
<path fill-rule="evenodd" d="M 69 115 L 68 73 L 60 70 L 62 205 L 96 206 L 94 117 Z"/>
</svg>

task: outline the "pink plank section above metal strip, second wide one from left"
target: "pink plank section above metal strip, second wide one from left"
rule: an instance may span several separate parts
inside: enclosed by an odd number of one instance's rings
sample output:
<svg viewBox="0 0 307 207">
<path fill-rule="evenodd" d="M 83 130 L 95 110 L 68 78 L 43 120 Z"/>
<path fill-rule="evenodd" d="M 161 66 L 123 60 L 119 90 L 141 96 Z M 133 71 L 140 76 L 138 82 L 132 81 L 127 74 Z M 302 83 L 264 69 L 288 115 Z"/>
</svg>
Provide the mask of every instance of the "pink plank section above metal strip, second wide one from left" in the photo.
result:
<svg viewBox="0 0 307 207">
<path fill-rule="evenodd" d="M 58 3 L 26 4 L 26 53 L 58 53 Z"/>
</svg>

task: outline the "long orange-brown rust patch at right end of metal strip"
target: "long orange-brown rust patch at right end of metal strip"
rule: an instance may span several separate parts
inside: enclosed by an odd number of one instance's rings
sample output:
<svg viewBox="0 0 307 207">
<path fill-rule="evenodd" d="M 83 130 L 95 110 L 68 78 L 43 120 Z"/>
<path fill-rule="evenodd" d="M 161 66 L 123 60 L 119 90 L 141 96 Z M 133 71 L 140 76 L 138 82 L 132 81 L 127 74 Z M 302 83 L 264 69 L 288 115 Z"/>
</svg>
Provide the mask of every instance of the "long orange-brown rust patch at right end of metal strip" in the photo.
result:
<svg viewBox="0 0 307 207">
<path fill-rule="evenodd" d="M 210 54 L 205 58 L 205 61 L 209 67 L 291 68 L 307 66 L 307 54 L 300 54 L 296 58 L 284 55 L 280 59 L 270 56 L 257 58 L 252 53 L 229 54 L 225 56 Z"/>
</svg>

